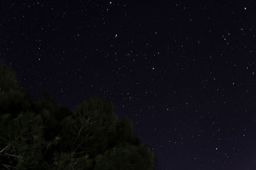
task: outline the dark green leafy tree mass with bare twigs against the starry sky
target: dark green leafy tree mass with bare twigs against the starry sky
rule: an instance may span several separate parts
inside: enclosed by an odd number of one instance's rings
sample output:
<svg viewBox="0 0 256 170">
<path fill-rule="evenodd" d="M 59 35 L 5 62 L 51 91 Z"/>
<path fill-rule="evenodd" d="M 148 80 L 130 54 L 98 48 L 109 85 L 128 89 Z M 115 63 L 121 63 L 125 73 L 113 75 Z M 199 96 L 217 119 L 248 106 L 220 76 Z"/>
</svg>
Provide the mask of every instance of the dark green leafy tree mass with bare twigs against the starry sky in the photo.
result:
<svg viewBox="0 0 256 170">
<path fill-rule="evenodd" d="M 153 169 L 154 154 L 92 97 L 70 112 L 48 94 L 32 102 L 0 61 L 0 169 Z"/>
</svg>

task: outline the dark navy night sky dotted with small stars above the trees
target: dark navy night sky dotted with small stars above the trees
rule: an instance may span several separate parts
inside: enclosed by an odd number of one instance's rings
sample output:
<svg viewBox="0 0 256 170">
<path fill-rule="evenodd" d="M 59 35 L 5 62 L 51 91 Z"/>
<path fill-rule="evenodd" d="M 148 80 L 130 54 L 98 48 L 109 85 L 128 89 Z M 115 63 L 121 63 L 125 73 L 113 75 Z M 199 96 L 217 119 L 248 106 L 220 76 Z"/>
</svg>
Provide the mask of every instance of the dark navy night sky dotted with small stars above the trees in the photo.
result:
<svg viewBox="0 0 256 170">
<path fill-rule="evenodd" d="M 0 59 L 33 99 L 105 96 L 156 169 L 256 169 L 256 2 L 0 2 Z"/>
</svg>

